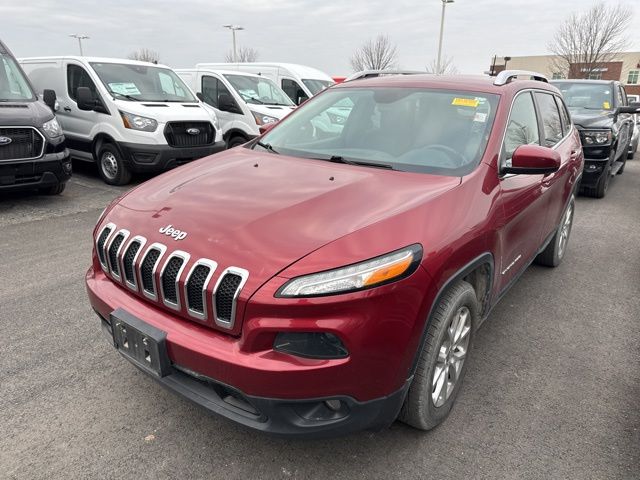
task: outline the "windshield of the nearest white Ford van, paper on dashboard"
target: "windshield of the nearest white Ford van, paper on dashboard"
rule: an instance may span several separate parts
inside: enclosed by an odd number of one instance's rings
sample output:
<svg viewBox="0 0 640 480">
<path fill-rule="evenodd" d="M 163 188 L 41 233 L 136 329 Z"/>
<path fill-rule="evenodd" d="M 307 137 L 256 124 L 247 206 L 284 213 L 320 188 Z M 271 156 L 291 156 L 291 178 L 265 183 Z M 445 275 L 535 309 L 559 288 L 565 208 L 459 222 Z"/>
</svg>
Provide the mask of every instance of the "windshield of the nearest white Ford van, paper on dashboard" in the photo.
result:
<svg viewBox="0 0 640 480">
<path fill-rule="evenodd" d="M 140 102 L 187 102 L 197 100 L 170 69 L 126 63 L 92 63 L 109 93 Z"/>
</svg>

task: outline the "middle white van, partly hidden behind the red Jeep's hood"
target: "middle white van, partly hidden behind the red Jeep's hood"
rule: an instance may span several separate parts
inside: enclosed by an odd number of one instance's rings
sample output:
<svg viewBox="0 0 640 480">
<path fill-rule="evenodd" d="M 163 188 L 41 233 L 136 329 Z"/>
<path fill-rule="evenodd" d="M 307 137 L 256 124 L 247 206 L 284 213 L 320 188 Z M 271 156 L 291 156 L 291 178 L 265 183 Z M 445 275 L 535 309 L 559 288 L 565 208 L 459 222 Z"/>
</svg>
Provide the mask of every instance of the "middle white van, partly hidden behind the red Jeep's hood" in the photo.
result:
<svg viewBox="0 0 640 480">
<path fill-rule="evenodd" d="M 175 72 L 215 109 L 227 148 L 255 138 L 260 127 L 277 122 L 295 108 L 280 87 L 260 75 L 206 68 Z"/>
</svg>

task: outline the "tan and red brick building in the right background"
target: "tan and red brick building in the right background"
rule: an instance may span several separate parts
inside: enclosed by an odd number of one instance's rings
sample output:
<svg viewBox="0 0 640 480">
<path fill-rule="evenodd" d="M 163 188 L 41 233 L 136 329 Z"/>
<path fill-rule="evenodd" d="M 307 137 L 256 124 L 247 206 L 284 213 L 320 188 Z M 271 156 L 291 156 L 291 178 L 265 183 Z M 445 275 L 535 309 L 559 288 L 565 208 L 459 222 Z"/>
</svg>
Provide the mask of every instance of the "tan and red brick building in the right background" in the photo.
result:
<svg viewBox="0 0 640 480">
<path fill-rule="evenodd" d="M 507 68 L 514 70 L 533 70 L 548 78 L 585 78 L 585 68 L 579 63 L 570 66 L 569 72 L 558 72 L 554 55 L 536 55 L 530 57 L 497 57 L 492 59 L 489 71 L 497 74 Z M 640 52 L 616 54 L 610 62 L 603 63 L 589 75 L 593 80 L 619 80 L 627 94 L 640 95 Z"/>
</svg>

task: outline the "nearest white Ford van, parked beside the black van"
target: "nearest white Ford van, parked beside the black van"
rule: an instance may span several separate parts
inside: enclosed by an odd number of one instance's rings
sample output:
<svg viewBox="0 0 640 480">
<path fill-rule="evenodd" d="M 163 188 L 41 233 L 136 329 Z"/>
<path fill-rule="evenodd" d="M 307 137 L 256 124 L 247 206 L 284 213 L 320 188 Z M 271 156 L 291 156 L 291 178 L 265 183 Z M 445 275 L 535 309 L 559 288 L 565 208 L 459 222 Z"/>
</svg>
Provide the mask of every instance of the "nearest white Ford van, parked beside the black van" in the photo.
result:
<svg viewBox="0 0 640 480">
<path fill-rule="evenodd" d="M 38 91 L 58 92 L 71 156 L 95 161 L 102 179 L 159 172 L 224 149 L 213 110 L 169 68 L 118 58 L 20 60 Z"/>
</svg>

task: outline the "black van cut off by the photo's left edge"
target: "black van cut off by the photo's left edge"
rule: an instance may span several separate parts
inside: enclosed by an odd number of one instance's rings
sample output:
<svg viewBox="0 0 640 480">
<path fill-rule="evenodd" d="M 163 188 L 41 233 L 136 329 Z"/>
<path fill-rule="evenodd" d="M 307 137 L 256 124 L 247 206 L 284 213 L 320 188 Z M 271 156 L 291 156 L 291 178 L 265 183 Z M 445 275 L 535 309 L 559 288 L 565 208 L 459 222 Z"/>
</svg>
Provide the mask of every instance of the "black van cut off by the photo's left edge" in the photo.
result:
<svg viewBox="0 0 640 480">
<path fill-rule="evenodd" d="M 71 158 L 53 112 L 56 94 L 40 101 L 9 49 L 0 41 L 0 192 L 62 193 Z"/>
</svg>

